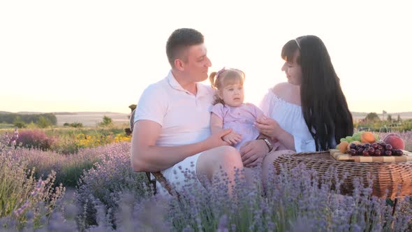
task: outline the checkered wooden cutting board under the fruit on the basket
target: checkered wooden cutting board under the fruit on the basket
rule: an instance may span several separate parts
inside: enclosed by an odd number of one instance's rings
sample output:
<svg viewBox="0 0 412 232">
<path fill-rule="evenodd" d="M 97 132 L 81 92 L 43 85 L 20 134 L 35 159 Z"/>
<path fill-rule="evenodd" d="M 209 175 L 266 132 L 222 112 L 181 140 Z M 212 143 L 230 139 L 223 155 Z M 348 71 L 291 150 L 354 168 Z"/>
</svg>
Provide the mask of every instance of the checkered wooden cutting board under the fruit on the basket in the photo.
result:
<svg viewBox="0 0 412 232">
<path fill-rule="evenodd" d="M 370 162 L 408 162 L 412 161 L 412 152 L 402 150 L 404 154 L 400 157 L 363 157 L 363 156 L 352 156 L 351 154 L 343 154 L 337 149 L 330 149 L 330 155 L 337 161 L 352 161 L 361 163 Z"/>
</svg>

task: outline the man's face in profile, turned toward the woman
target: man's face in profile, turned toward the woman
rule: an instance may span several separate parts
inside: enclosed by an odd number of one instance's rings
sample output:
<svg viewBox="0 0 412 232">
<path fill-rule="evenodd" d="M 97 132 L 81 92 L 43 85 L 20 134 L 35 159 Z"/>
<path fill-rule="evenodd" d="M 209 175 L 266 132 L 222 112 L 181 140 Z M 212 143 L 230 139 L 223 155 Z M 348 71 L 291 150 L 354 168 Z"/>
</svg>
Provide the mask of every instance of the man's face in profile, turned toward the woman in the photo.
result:
<svg viewBox="0 0 412 232">
<path fill-rule="evenodd" d="M 207 49 L 204 43 L 192 45 L 187 50 L 187 61 L 184 62 L 184 73 L 191 80 L 200 82 L 207 79 L 207 71 L 212 66 L 209 57 L 207 57 Z"/>
</svg>

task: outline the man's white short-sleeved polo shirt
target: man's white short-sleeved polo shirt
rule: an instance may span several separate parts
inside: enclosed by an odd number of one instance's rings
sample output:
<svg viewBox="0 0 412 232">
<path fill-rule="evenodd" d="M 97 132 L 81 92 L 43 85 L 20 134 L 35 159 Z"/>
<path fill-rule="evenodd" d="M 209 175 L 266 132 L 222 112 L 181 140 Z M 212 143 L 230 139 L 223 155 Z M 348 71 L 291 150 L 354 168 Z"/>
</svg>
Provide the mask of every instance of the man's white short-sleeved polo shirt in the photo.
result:
<svg viewBox="0 0 412 232">
<path fill-rule="evenodd" d="M 161 125 L 158 146 L 197 143 L 210 136 L 210 108 L 214 90 L 197 83 L 191 94 L 169 72 L 163 80 L 149 85 L 140 96 L 135 122 L 146 119 Z"/>
</svg>

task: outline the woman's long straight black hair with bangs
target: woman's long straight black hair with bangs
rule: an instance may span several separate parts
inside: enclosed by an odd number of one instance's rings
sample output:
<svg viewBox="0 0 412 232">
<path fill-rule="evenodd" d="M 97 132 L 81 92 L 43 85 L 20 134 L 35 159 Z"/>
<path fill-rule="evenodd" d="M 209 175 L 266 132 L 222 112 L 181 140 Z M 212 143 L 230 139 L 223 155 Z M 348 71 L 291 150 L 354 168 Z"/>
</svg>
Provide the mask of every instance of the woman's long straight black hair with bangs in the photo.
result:
<svg viewBox="0 0 412 232">
<path fill-rule="evenodd" d="M 299 50 L 300 56 L 294 57 Z M 325 44 L 316 36 L 288 41 L 281 57 L 302 66 L 300 98 L 316 150 L 328 150 L 340 138 L 352 136 L 353 119 Z M 334 138 L 332 138 L 334 136 Z M 332 141 L 334 139 L 335 141 Z"/>
</svg>

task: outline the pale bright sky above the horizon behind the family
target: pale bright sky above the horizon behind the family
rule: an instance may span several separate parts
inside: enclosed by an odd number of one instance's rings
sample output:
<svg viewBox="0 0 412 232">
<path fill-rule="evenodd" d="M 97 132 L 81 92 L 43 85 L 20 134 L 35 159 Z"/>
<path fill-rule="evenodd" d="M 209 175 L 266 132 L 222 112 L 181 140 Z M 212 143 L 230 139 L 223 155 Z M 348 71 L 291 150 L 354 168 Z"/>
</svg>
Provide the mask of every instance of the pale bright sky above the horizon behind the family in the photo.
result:
<svg viewBox="0 0 412 232">
<path fill-rule="evenodd" d="M 313 34 L 351 111 L 412 111 L 411 22 L 408 1 L 0 1 L 0 111 L 129 113 L 181 27 L 205 36 L 209 72 L 246 73 L 248 102 L 286 81 L 284 43 Z"/>
</svg>

